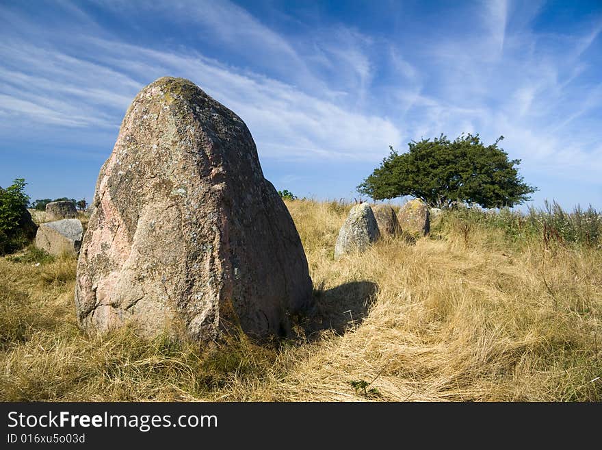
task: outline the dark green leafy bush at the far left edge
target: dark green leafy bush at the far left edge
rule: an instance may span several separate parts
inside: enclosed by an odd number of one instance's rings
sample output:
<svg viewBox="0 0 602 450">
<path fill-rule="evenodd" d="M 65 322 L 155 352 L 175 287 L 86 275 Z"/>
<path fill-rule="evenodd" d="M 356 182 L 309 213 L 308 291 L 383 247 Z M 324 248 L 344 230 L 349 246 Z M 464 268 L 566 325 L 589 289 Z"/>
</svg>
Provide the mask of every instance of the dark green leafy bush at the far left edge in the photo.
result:
<svg viewBox="0 0 602 450">
<path fill-rule="evenodd" d="M 0 188 L 0 254 L 9 253 L 27 244 L 23 217 L 29 197 L 25 194 L 25 179 L 16 178 L 8 188 Z"/>
</svg>

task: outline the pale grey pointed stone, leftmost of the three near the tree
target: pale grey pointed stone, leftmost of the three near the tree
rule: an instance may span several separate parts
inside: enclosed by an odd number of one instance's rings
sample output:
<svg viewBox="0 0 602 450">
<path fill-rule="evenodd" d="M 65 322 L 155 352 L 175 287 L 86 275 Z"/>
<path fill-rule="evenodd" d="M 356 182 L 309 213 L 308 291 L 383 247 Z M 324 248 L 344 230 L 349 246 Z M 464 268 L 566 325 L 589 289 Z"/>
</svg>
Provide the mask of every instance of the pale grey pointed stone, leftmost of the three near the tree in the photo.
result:
<svg viewBox="0 0 602 450">
<path fill-rule="evenodd" d="M 366 251 L 379 237 L 378 224 L 370 205 L 368 203 L 355 205 L 339 230 L 335 245 L 335 259 L 341 258 L 345 253 Z"/>
</svg>

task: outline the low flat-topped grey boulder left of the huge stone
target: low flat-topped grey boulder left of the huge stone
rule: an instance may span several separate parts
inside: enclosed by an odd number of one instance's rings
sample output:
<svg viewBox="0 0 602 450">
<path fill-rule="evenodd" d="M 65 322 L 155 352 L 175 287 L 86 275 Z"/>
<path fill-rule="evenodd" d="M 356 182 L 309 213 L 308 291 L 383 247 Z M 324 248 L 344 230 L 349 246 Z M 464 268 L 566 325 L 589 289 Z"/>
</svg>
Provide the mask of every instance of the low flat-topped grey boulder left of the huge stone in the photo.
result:
<svg viewBox="0 0 602 450">
<path fill-rule="evenodd" d="M 83 227 L 77 218 L 64 218 L 62 221 L 42 223 L 36 234 L 36 247 L 60 255 L 76 255 L 81 247 Z"/>
</svg>

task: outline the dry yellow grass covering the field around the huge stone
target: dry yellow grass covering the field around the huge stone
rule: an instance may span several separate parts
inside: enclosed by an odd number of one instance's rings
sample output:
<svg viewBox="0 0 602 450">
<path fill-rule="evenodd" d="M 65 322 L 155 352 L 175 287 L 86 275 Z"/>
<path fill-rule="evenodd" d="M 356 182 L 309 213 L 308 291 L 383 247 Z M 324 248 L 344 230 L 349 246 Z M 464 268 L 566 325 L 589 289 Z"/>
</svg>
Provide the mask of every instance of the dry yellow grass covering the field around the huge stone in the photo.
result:
<svg viewBox="0 0 602 450">
<path fill-rule="evenodd" d="M 2 259 L 0 399 L 602 399 L 600 249 L 516 247 L 495 232 L 451 230 L 335 262 L 349 207 L 287 205 L 321 326 L 279 345 L 231 336 L 206 350 L 128 330 L 90 338 L 75 318 L 75 260 Z"/>
</svg>

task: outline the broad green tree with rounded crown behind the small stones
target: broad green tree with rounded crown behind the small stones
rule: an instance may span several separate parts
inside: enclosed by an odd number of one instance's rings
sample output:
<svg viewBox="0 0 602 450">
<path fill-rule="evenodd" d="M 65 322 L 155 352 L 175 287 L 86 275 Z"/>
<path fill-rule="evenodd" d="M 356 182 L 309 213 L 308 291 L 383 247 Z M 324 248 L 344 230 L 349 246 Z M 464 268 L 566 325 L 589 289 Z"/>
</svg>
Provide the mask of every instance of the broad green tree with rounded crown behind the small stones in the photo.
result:
<svg viewBox="0 0 602 450">
<path fill-rule="evenodd" d="M 450 141 L 439 138 L 412 141 L 408 152 L 391 154 L 358 186 L 358 192 L 374 200 L 411 195 L 432 208 L 448 208 L 454 202 L 483 208 L 512 207 L 530 199 L 537 188 L 523 182 L 521 160 L 484 145 L 479 135 L 462 134 Z"/>
</svg>

